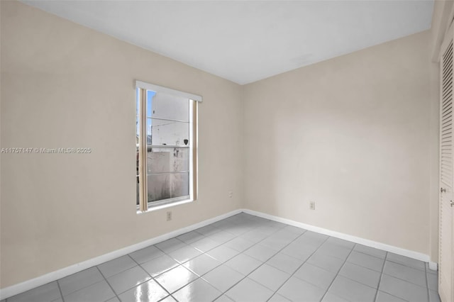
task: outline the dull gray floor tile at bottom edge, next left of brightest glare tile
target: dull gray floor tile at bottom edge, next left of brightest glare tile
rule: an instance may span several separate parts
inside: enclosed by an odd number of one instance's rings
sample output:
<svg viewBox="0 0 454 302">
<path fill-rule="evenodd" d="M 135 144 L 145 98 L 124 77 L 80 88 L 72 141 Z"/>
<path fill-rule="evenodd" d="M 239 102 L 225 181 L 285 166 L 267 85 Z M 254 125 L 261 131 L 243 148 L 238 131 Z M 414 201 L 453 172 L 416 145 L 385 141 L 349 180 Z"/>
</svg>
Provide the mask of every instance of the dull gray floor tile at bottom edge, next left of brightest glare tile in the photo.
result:
<svg viewBox="0 0 454 302">
<path fill-rule="evenodd" d="M 64 296 L 64 298 L 65 302 L 103 302 L 113 298 L 114 296 L 114 291 L 112 291 L 109 284 L 103 280 L 87 286 L 84 289 L 79 289 L 79 291 L 74 291 L 73 293 Z"/>
</svg>

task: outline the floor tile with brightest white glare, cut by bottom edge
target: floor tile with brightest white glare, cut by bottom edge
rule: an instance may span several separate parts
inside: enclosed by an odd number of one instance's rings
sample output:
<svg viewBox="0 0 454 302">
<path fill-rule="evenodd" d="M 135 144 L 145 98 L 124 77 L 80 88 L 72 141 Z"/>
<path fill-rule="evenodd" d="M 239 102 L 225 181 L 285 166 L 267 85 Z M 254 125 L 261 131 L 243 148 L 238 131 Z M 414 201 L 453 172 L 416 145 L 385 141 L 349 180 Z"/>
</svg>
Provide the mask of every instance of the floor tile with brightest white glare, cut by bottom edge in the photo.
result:
<svg viewBox="0 0 454 302">
<path fill-rule="evenodd" d="M 120 296 L 121 302 L 137 302 L 137 301 L 160 301 L 162 298 L 169 296 L 169 293 L 162 289 L 155 280 L 149 280 L 125 291 Z"/>
</svg>

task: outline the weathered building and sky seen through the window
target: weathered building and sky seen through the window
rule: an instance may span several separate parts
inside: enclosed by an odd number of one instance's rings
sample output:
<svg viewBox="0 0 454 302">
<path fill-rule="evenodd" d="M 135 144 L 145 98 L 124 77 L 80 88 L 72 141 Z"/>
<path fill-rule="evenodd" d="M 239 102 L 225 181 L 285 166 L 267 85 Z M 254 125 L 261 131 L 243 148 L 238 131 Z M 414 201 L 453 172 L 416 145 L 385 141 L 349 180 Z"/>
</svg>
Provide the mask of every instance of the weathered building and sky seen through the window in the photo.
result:
<svg viewBox="0 0 454 302">
<path fill-rule="evenodd" d="M 144 104 L 140 104 L 141 101 Z M 140 179 L 146 179 L 149 204 L 190 198 L 192 102 L 186 97 L 137 88 L 137 204 L 140 203 Z M 142 123 L 146 123 L 143 131 L 146 140 L 140 137 Z M 141 141 L 146 141 L 146 145 L 140 144 Z M 146 176 L 143 178 L 140 178 L 140 147 L 146 148 L 146 157 L 143 157 Z"/>
</svg>

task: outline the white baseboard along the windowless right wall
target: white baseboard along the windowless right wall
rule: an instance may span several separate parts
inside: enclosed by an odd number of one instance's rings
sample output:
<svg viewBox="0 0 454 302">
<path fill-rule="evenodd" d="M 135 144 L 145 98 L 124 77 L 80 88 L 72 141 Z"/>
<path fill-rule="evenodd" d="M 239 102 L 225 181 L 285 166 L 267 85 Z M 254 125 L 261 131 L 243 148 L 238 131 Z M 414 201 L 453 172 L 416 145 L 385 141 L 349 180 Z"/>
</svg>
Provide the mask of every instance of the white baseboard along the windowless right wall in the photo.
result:
<svg viewBox="0 0 454 302">
<path fill-rule="evenodd" d="M 382 242 L 368 240 L 368 239 L 364 239 L 364 238 L 361 238 L 361 237 L 347 235 L 347 234 L 344 234 L 344 233 L 338 233 L 338 232 L 335 232 L 333 230 L 327 230 L 326 228 L 319 228 L 319 227 L 316 227 L 314 225 L 306 225 L 306 223 L 299 223 L 299 222 L 294 221 L 294 220 L 289 220 L 289 219 L 286 219 L 286 218 L 280 218 L 280 217 L 277 217 L 277 216 L 272 216 L 272 215 L 261 213 L 261 212 L 257 212 L 257 211 L 244 209 L 243 212 L 248 213 L 250 215 L 254 215 L 254 216 L 258 216 L 258 217 L 274 220 L 274 221 L 277 221 L 279 223 L 286 223 L 287 225 L 293 225 L 293 226 L 296 226 L 298 228 L 304 228 L 305 230 L 311 230 L 313 232 L 321 233 L 323 235 L 328 235 L 328 236 L 331 236 L 331 237 L 336 237 L 336 238 L 340 238 L 340 239 L 343 239 L 343 240 L 348 240 L 348 241 L 351 241 L 351 242 L 359 243 L 360 245 L 366 245 L 367 247 L 375 247 L 376 249 L 385 250 L 387 252 L 394 252 L 394 254 L 410 257 L 410 258 L 413 258 L 413 259 L 416 259 L 416 260 L 421 260 L 423 262 L 429 262 L 429 264 L 430 264 L 430 260 L 431 260 L 430 257 L 428 255 L 425 255 L 425 254 L 420 253 L 420 252 L 414 252 L 414 251 L 411 251 L 411 250 L 405 250 L 405 249 L 402 249 L 401 247 L 394 247 L 392 245 L 386 245 L 386 244 L 384 244 Z M 432 263 L 434 263 L 434 262 L 432 262 Z"/>
</svg>

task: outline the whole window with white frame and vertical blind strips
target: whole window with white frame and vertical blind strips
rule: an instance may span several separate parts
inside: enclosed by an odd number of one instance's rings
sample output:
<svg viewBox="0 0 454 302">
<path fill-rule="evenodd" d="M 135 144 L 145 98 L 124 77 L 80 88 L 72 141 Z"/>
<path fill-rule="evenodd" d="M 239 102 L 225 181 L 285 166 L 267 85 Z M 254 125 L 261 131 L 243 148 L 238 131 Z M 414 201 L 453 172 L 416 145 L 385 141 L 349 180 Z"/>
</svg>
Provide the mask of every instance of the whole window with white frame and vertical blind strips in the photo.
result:
<svg viewBox="0 0 454 302">
<path fill-rule="evenodd" d="M 196 199 L 196 112 L 201 96 L 136 87 L 138 211 Z"/>
</svg>

